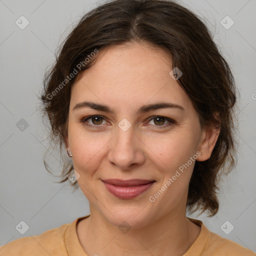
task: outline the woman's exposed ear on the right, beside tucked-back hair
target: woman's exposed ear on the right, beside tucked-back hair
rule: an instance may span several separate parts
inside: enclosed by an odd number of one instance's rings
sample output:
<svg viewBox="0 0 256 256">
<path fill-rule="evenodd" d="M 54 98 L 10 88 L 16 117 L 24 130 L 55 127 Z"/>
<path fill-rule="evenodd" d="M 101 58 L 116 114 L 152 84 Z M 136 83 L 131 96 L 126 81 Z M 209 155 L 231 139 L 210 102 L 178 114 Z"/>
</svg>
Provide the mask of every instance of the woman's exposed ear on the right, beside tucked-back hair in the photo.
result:
<svg viewBox="0 0 256 256">
<path fill-rule="evenodd" d="M 201 154 L 197 157 L 197 161 L 205 161 L 210 158 L 212 150 L 216 144 L 218 135 L 220 131 L 219 127 L 209 127 L 205 126 L 201 133 L 201 141 L 198 146 L 198 151 Z"/>
</svg>

